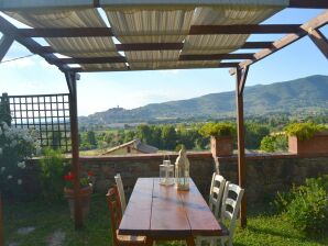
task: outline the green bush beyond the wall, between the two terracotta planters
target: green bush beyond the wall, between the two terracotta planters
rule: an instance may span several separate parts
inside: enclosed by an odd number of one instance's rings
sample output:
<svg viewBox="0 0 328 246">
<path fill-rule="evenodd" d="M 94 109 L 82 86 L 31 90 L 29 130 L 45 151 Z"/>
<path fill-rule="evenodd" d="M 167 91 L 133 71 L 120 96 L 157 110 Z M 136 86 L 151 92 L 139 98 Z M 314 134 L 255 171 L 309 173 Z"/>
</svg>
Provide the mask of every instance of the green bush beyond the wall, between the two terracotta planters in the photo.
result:
<svg viewBox="0 0 328 246">
<path fill-rule="evenodd" d="M 288 148 L 287 137 L 284 134 L 267 135 L 261 141 L 260 149 L 263 152 L 285 152 Z"/>
</svg>

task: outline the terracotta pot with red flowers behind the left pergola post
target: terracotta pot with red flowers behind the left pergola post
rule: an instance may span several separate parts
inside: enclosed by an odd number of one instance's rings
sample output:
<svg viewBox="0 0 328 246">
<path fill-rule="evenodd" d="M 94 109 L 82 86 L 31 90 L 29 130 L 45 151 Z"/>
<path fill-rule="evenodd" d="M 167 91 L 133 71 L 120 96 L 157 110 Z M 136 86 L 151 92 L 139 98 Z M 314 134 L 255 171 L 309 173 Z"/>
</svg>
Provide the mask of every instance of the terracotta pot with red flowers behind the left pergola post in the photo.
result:
<svg viewBox="0 0 328 246">
<path fill-rule="evenodd" d="M 92 182 L 91 178 L 94 177 L 94 172 L 88 171 L 86 177 L 79 179 L 79 195 L 80 195 L 80 204 L 83 208 L 83 216 L 86 216 L 90 209 L 90 200 L 92 194 Z M 75 180 L 74 172 L 69 171 L 67 175 L 64 176 L 65 179 L 65 187 L 64 187 L 64 195 L 68 201 L 70 216 L 74 217 L 74 180 Z"/>
</svg>

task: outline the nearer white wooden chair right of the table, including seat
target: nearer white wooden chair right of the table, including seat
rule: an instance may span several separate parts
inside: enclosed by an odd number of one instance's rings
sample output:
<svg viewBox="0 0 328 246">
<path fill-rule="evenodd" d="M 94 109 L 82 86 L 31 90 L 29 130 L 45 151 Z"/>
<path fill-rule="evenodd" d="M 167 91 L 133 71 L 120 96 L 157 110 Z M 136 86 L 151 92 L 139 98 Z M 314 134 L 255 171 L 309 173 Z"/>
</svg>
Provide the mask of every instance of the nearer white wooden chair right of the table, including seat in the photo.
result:
<svg viewBox="0 0 328 246">
<path fill-rule="evenodd" d="M 233 195 L 230 195 L 234 193 Z M 221 208 L 221 220 L 220 223 L 223 225 L 223 222 L 228 220 L 230 222 L 230 226 L 228 228 L 227 235 L 217 236 L 217 237 L 200 237 L 197 238 L 197 246 L 200 246 L 203 242 L 206 242 L 210 246 L 218 245 L 218 241 L 220 241 L 220 245 L 232 246 L 233 234 L 236 230 L 237 216 L 240 210 L 241 199 L 243 197 L 244 189 L 241 189 L 239 186 L 226 182 L 223 198 L 222 198 L 222 208 Z"/>
</svg>

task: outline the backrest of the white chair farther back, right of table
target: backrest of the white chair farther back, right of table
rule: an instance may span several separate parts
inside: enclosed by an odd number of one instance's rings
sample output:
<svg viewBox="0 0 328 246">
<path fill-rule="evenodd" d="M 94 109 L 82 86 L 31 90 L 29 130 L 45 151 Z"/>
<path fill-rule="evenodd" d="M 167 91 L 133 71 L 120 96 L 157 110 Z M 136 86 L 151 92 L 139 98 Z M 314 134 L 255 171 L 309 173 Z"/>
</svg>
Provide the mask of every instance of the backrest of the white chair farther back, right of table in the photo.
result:
<svg viewBox="0 0 328 246">
<path fill-rule="evenodd" d="M 211 178 L 210 190 L 209 190 L 208 204 L 209 204 L 209 209 L 212 211 L 212 213 L 217 219 L 220 217 L 220 209 L 221 209 L 225 185 L 226 185 L 226 179 L 222 176 L 214 172 Z"/>
</svg>

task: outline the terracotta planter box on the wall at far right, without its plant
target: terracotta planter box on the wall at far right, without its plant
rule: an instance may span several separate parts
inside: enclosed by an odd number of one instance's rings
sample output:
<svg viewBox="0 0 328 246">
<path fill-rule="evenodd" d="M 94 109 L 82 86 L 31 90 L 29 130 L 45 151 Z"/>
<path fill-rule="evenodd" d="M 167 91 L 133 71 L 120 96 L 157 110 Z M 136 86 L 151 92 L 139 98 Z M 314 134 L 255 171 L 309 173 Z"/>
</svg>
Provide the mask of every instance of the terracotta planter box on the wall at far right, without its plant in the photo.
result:
<svg viewBox="0 0 328 246">
<path fill-rule="evenodd" d="M 288 152 L 293 154 L 328 154 L 328 133 L 315 134 L 307 141 L 288 136 Z"/>
</svg>

